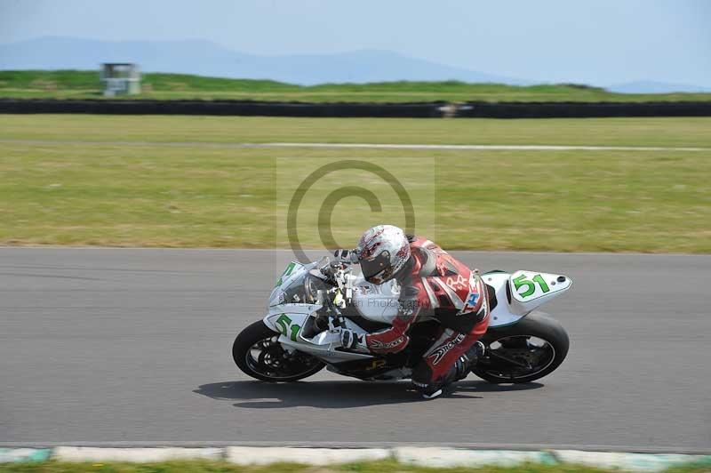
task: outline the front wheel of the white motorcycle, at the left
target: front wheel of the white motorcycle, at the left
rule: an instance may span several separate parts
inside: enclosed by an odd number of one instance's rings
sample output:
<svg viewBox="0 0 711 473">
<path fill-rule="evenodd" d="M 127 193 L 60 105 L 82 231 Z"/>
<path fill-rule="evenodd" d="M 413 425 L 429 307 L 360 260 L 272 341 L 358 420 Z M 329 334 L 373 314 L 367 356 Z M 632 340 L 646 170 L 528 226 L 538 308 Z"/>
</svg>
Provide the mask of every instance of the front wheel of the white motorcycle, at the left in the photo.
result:
<svg viewBox="0 0 711 473">
<path fill-rule="evenodd" d="M 290 352 L 278 340 L 279 333 L 260 320 L 237 335 L 232 358 L 240 370 L 260 381 L 299 381 L 324 368 L 318 358 Z"/>
</svg>

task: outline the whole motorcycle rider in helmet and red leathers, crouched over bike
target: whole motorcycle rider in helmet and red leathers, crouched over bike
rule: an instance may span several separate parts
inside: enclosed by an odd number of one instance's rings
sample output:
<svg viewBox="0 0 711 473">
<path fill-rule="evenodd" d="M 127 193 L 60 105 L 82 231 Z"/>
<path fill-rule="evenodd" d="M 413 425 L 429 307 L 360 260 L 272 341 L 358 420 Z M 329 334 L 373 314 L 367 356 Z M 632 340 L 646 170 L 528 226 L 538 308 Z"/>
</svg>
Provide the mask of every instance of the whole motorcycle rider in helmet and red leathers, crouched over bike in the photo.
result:
<svg viewBox="0 0 711 473">
<path fill-rule="evenodd" d="M 408 329 L 427 314 L 441 325 L 441 333 L 414 367 L 411 380 L 423 397 L 443 393 L 453 381 L 467 377 L 483 354 L 478 339 L 489 325 L 489 294 L 481 277 L 435 243 L 405 236 L 401 228 L 379 225 L 363 233 L 355 250 L 339 250 L 341 261 L 359 263 L 365 280 L 381 285 L 395 278 L 400 298 L 392 326 L 359 335 L 341 329 L 346 349 L 377 354 L 404 349 Z"/>
</svg>

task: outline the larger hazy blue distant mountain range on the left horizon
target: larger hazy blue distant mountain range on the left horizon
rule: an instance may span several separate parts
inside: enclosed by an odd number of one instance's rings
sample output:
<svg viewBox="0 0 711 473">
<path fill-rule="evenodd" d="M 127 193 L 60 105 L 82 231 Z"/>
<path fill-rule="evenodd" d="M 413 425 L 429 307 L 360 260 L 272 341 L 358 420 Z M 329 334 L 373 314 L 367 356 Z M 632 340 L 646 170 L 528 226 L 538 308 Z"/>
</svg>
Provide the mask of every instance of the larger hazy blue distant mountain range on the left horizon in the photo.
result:
<svg viewBox="0 0 711 473">
<path fill-rule="evenodd" d="M 292 84 L 459 80 L 531 84 L 467 68 L 454 68 L 395 52 L 257 56 L 209 41 L 98 41 L 41 37 L 0 44 L 0 69 L 93 69 L 101 62 L 135 62 L 147 72 L 273 79 Z"/>
</svg>

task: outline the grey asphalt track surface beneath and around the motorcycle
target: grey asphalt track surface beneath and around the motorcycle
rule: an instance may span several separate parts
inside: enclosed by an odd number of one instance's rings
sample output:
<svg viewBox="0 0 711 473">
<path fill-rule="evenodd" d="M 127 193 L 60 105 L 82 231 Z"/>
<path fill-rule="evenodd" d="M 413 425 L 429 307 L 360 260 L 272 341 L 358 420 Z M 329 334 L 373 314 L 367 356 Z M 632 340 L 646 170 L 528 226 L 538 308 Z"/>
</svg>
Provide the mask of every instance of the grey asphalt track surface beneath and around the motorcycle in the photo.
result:
<svg viewBox="0 0 711 473">
<path fill-rule="evenodd" d="M 0 443 L 711 451 L 711 256 L 456 254 L 573 278 L 545 308 L 571 334 L 557 372 L 470 375 L 428 402 L 407 382 L 325 371 L 251 381 L 232 341 L 288 253 L 0 248 Z"/>
</svg>

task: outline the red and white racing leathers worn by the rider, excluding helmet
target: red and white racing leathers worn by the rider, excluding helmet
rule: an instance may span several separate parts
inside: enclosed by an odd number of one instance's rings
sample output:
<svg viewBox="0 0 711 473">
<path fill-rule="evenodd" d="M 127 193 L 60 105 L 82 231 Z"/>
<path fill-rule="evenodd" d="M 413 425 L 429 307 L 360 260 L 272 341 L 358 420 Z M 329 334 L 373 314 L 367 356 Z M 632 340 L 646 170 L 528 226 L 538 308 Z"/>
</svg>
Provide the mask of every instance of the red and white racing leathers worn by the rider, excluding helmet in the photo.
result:
<svg viewBox="0 0 711 473">
<path fill-rule="evenodd" d="M 433 242 L 409 237 L 411 258 L 395 278 L 401 285 L 398 313 L 392 327 L 366 335 L 374 353 L 404 349 L 407 331 L 427 314 L 440 322 L 441 333 L 412 373 L 423 392 L 454 381 L 455 364 L 472 348 L 489 325 L 489 296 L 474 271 Z"/>
</svg>

